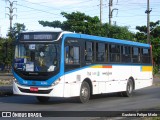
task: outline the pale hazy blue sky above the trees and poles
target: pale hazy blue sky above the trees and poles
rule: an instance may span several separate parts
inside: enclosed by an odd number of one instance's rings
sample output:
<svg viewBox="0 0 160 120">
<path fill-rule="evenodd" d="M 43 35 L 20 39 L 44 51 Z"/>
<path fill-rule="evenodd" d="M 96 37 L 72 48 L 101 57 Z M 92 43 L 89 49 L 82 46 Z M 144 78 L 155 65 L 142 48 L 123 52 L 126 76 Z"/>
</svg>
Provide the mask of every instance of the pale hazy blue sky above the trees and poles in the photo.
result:
<svg viewBox="0 0 160 120">
<path fill-rule="evenodd" d="M 10 0 L 11 2 L 13 0 Z M 61 12 L 80 11 L 90 16 L 100 16 L 100 0 L 14 0 L 13 17 L 14 23 L 24 23 L 28 30 L 53 30 L 53 28 L 43 27 L 38 23 L 39 20 L 64 21 Z M 118 1 L 118 2 L 117 2 Z M 108 19 L 109 0 L 103 0 L 102 22 L 106 23 Z M 0 35 L 5 37 L 9 29 L 9 2 L 0 0 Z M 147 0 L 113 0 L 112 24 L 119 26 L 128 26 L 131 31 L 135 31 L 135 26 L 147 25 Z M 150 0 L 150 20 L 155 22 L 160 20 L 160 0 Z"/>
</svg>

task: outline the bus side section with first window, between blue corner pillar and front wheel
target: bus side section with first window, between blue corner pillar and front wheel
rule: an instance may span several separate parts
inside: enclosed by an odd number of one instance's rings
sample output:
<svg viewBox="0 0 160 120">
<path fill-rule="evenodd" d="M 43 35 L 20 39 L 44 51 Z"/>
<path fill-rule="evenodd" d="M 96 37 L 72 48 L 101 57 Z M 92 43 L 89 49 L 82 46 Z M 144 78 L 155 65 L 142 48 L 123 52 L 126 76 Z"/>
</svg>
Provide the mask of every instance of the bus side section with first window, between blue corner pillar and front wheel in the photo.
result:
<svg viewBox="0 0 160 120">
<path fill-rule="evenodd" d="M 64 51 L 64 70 L 65 70 L 65 86 L 64 96 L 72 97 L 79 96 L 81 71 L 81 52 L 78 40 L 69 39 L 65 43 Z"/>
</svg>

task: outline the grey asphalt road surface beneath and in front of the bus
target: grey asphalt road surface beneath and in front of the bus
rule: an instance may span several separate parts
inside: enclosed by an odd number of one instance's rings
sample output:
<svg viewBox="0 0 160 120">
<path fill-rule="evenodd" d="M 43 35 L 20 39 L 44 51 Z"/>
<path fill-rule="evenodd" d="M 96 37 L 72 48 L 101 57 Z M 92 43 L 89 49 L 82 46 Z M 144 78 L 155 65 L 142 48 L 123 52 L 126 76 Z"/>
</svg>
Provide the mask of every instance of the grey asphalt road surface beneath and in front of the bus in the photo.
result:
<svg viewBox="0 0 160 120">
<path fill-rule="evenodd" d="M 46 104 L 31 96 L 0 97 L 0 111 L 137 111 L 160 108 L 160 87 L 151 86 L 134 92 L 130 98 L 117 94 L 95 95 L 89 103 L 73 98 L 52 98 Z M 57 118 L 60 119 L 60 118 Z M 66 118 L 65 118 L 66 119 Z M 67 118 L 69 119 L 69 118 Z M 77 119 L 77 118 L 76 118 Z M 81 119 L 81 118 L 79 118 Z M 89 118 L 83 118 L 89 119 Z M 93 118 L 92 118 L 93 119 Z M 91 120 L 92 120 L 91 119 Z"/>
</svg>

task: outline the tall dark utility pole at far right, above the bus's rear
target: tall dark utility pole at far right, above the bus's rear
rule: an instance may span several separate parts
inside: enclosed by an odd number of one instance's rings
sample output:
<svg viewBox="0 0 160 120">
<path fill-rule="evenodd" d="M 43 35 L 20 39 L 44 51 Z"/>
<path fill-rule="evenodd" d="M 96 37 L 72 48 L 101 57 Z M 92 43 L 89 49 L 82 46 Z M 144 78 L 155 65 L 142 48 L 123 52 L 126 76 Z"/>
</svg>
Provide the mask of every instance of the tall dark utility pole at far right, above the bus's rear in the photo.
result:
<svg viewBox="0 0 160 120">
<path fill-rule="evenodd" d="M 150 44 L 150 12 L 152 10 L 149 8 L 149 0 L 147 0 L 147 10 L 145 13 L 147 14 L 147 43 Z"/>
</svg>

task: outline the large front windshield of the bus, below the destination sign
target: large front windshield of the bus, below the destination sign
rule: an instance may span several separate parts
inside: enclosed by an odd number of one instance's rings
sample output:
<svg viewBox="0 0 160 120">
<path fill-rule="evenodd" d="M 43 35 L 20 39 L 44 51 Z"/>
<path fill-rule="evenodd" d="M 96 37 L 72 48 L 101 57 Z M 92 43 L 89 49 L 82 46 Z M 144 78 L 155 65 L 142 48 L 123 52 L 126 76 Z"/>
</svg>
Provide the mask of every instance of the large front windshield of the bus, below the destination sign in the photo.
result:
<svg viewBox="0 0 160 120">
<path fill-rule="evenodd" d="M 58 44 L 16 45 L 14 68 L 24 72 L 53 72 L 59 67 Z"/>
</svg>

